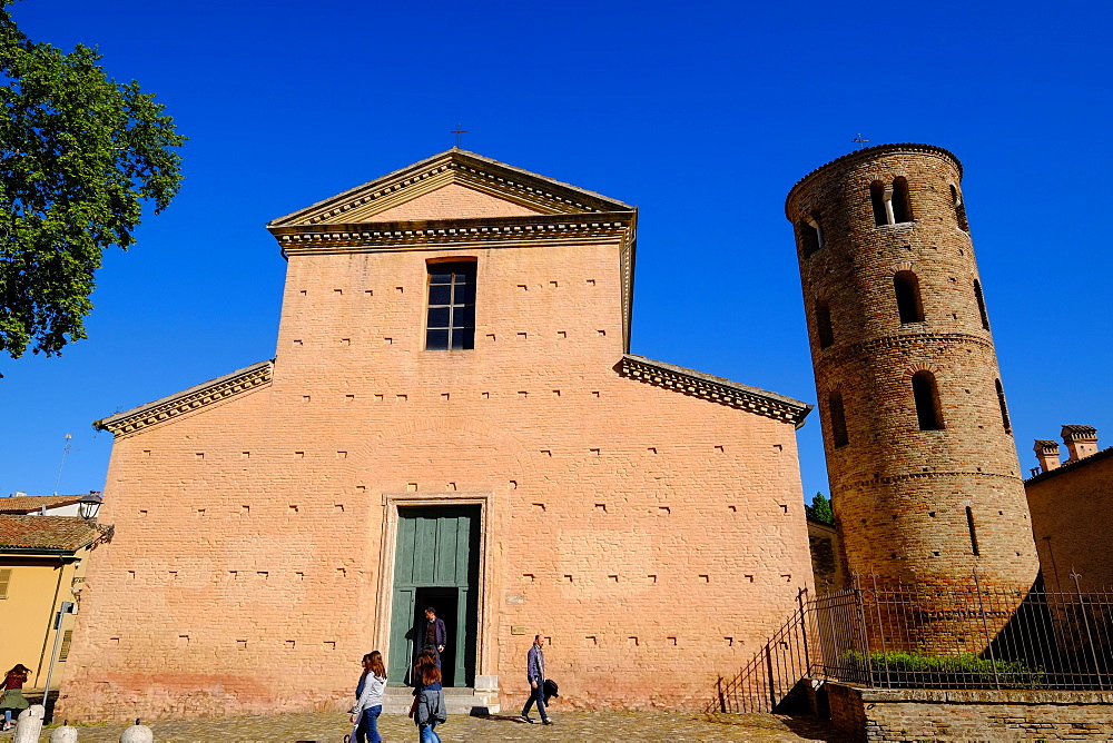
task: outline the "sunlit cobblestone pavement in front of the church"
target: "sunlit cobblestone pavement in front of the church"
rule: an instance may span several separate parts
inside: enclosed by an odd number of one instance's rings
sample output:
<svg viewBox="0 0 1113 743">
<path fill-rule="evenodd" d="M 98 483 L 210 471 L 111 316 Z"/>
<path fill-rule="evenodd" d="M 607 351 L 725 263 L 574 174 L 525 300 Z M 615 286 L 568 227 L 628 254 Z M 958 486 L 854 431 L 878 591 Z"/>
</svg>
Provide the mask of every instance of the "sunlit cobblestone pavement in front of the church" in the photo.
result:
<svg viewBox="0 0 1113 743">
<path fill-rule="evenodd" d="M 555 724 L 544 726 L 514 722 L 508 715 L 487 717 L 452 716 L 437 729 L 444 743 L 484 743 L 485 741 L 523 741 L 553 743 L 560 741 L 669 741 L 721 743 L 726 741 L 837 741 L 829 724 L 809 717 L 786 717 L 771 714 L 696 715 L 667 712 L 567 712 L 553 714 Z M 125 724 L 82 725 L 79 743 L 116 743 Z M 268 717 L 224 717 L 152 722 L 151 730 L 159 743 L 341 743 L 351 732 L 347 715 L 339 713 L 274 715 Z M 380 717 L 384 743 L 417 741 L 417 731 L 404 715 Z M 49 741 L 45 729 L 40 741 Z M 0 735 L 10 741 L 11 733 Z"/>
</svg>

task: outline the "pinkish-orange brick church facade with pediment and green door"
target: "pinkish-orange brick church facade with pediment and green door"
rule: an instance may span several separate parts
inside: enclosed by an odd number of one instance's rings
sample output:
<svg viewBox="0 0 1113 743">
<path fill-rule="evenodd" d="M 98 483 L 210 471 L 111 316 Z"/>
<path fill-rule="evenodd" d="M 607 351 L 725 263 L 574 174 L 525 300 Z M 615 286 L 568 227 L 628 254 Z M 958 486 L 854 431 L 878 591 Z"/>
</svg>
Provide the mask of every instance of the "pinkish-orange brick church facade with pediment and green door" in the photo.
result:
<svg viewBox="0 0 1113 743">
<path fill-rule="evenodd" d="M 637 217 L 454 149 L 270 222 L 275 358 L 97 423 L 58 714 L 344 709 L 425 606 L 492 707 L 534 634 L 569 706 L 705 703 L 811 583 L 809 406 L 630 354 Z"/>
</svg>

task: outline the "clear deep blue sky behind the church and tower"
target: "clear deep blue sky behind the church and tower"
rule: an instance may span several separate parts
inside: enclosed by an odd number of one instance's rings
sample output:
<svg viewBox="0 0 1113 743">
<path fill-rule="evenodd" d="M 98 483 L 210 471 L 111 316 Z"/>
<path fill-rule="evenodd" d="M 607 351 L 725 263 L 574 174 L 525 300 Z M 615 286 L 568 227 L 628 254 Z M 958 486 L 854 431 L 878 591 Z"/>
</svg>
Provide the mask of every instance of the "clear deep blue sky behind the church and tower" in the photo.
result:
<svg viewBox="0 0 1113 743">
<path fill-rule="evenodd" d="M 927 142 L 964 194 L 1022 468 L 1113 442 L 1103 2 L 26 0 L 190 138 L 186 181 L 106 255 L 89 338 L 0 359 L 0 495 L 100 489 L 93 419 L 270 358 L 268 219 L 451 147 L 638 205 L 633 353 L 815 402 L 784 199 L 854 149 Z M 818 416 L 805 492 L 827 492 Z"/>
</svg>

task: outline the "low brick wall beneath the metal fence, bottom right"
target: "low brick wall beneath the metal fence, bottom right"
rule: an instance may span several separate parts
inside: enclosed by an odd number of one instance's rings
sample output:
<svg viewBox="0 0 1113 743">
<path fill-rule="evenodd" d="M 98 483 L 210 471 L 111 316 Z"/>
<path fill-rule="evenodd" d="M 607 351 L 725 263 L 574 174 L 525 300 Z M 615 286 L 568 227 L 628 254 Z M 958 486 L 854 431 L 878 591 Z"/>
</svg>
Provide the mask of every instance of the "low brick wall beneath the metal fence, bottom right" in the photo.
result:
<svg viewBox="0 0 1113 743">
<path fill-rule="evenodd" d="M 859 741 L 1113 740 L 1110 692 L 824 688 L 831 722 Z"/>
</svg>

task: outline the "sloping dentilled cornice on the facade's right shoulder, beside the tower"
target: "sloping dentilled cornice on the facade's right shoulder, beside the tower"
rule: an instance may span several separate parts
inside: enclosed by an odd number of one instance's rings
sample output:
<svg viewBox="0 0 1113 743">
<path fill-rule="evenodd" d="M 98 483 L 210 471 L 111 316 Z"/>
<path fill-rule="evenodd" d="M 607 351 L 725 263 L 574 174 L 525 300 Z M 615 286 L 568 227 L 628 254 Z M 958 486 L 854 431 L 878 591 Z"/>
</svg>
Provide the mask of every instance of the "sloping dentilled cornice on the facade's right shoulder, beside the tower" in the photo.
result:
<svg viewBox="0 0 1113 743">
<path fill-rule="evenodd" d="M 797 428 L 804 425 L 804 419 L 812 407 L 777 393 L 632 354 L 624 355 L 615 368 L 623 377 L 692 397 L 701 397 L 711 403 L 747 410 L 781 423 L 791 423 Z"/>
</svg>

